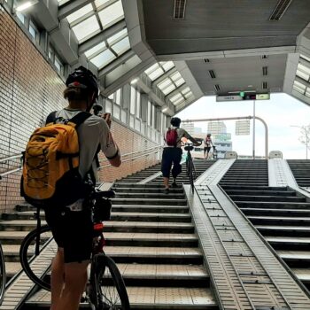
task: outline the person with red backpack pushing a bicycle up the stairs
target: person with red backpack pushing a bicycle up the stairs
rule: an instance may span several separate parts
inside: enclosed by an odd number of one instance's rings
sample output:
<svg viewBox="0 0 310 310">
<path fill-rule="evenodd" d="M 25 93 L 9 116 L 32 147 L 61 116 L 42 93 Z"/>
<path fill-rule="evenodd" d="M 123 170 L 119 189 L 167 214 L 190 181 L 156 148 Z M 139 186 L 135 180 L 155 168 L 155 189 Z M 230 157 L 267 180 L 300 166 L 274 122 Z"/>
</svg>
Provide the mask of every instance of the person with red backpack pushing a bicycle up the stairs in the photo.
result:
<svg viewBox="0 0 310 310">
<path fill-rule="evenodd" d="M 170 124 L 171 127 L 167 128 L 165 132 L 164 151 L 161 159 L 161 172 L 164 177 L 166 193 L 169 192 L 169 177 L 172 164 L 174 164 L 174 167 L 171 171 L 174 178 L 174 182 L 171 185 L 173 188 L 177 187 L 176 177 L 182 172 L 182 167 L 180 165 L 182 159 L 182 137 L 189 139 L 192 143 L 194 143 L 194 145 L 200 145 L 198 141 L 190 136 L 186 130 L 180 128 L 181 120 L 178 117 L 173 117 L 170 121 Z"/>
</svg>

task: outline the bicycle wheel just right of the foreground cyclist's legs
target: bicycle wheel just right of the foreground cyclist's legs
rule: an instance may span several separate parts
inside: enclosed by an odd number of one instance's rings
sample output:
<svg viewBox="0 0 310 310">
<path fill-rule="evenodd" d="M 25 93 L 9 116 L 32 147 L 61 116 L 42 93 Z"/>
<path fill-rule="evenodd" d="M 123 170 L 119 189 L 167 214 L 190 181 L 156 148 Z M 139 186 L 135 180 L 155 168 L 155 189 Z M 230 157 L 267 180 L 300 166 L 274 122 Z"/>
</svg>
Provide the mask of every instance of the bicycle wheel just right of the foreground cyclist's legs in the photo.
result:
<svg viewBox="0 0 310 310">
<path fill-rule="evenodd" d="M 96 309 L 130 310 L 126 286 L 114 260 L 101 253 L 96 255 L 93 264 L 93 280 L 97 291 Z"/>
</svg>

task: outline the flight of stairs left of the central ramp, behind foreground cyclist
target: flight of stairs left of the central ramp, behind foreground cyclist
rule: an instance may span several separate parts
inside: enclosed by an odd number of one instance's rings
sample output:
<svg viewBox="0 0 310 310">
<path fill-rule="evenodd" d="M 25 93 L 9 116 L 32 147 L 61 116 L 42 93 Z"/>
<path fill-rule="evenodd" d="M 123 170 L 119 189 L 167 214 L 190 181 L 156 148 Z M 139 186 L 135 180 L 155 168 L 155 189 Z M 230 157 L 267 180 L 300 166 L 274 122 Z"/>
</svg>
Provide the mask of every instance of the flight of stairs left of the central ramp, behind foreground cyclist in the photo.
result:
<svg viewBox="0 0 310 310">
<path fill-rule="evenodd" d="M 136 184 L 129 178 L 116 182 L 113 190 L 105 252 L 120 268 L 132 309 L 218 309 L 182 187 L 165 194 L 161 185 Z M 0 222 L 11 276 L 20 268 L 22 238 L 35 229 L 33 213 L 21 205 Z M 24 309 L 47 309 L 49 300 L 49 292 L 38 291 Z"/>
</svg>

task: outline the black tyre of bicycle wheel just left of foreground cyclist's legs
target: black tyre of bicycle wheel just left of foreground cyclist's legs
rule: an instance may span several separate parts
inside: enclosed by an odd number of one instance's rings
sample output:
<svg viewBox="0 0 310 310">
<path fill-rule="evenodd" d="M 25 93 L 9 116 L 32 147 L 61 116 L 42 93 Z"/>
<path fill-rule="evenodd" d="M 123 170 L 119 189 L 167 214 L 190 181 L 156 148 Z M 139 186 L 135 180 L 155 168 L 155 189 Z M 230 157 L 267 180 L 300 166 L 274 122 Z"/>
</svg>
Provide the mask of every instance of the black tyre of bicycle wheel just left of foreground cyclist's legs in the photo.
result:
<svg viewBox="0 0 310 310">
<path fill-rule="evenodd" d="M 27 234 L 25 239 L 20 244 L 19 249 L 19 260 L 21 267 L 25 271 L 26 275 L 29 277 L 31 281 L 33 281 L 35 284 L 37 284 L 39 287 L 41 287 L 44 290 L 50 291 L 50 278 L 43 275 L 37 275 L 34 270 L 32 270 L 30 263 L 35 257 L 37 256 L 34 252 L 35 242 L 36 242 L 36 236 L 37 236 L 38 229 L 34 229 Z M 42 252 L 43 249 L 50 251 L 50 266 L 51 266 L 51 259 L 55 256 L 56 251 L 55 248 L 49 247 L 50 240 L 51 240 L 51 230 L 50 227 L 47 225 L 44 225 L 40 229 L 39 233 L 40 239 L 39 239 L 39 253 Z M 49 247 L 49 248 L 47 248 Z M 52 256 L 52 257 L 51 257 Z"/>
</svg>

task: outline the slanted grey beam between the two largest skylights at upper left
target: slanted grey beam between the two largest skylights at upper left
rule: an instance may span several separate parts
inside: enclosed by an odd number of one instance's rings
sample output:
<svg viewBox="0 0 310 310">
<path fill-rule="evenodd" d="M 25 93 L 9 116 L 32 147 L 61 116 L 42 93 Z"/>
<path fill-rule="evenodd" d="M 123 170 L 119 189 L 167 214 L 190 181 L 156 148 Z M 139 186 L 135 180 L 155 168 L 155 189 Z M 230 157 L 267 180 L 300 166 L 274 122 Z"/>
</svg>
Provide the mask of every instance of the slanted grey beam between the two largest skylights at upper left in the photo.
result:
<svg viewBox="0 0 310 310">
<path fill-rule="evenodd" d="M 108 27 L 107 29 L 105 29 L 104 31 L 100 32 L 97 35 L 94 35 L 89 40 L 79 45 L 79 55 L 83 54 L 86 50 L 90 50 L 97 44 L 104 42 L 110 36 L 117 34 L 118 32 L 120 32 L 120 30 L 124 28 L 126 28 L 125 19 L 120 20 L 113 26 Z"/>
</svg>

